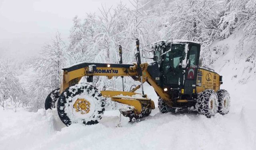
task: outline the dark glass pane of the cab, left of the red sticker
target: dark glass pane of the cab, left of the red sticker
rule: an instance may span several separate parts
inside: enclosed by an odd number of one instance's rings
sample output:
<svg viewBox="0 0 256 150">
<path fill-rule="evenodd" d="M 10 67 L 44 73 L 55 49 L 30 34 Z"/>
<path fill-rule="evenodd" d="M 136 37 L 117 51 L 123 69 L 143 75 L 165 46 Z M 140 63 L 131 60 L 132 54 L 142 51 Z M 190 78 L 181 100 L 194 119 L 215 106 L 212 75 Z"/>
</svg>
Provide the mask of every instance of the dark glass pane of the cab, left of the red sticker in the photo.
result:
<svg viewBox="0 0 256 150">
<path fill-rule="evenodd" d="M 184 59 L 184 44 L 172 44 L 172 49 L 166 47 L 168 51 L 164 55 L 163 73 L 167 85 L 182 85 L 184 72 L 180 68 L 180 64 Z"/>
</svg>

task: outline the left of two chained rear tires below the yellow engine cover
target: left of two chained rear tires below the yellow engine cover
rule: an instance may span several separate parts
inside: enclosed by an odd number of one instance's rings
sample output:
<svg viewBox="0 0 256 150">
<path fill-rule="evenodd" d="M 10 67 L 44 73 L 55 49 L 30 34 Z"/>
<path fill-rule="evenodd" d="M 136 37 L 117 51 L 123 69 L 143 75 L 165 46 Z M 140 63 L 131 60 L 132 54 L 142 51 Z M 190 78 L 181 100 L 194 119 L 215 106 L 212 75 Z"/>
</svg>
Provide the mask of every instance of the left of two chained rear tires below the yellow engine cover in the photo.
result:
<svg viewBox="0 0 256 150">
<path fill-rule="evenodd" d="M 213 108 L 211 109 L 211 100 L 213 100 Z M 198 93 L 196 100 L 196 110 L 199 114 L 210 118 L 217 113 L 218 110 L 218 96 L 212 89 L 204 90 Z"/>
</svg>

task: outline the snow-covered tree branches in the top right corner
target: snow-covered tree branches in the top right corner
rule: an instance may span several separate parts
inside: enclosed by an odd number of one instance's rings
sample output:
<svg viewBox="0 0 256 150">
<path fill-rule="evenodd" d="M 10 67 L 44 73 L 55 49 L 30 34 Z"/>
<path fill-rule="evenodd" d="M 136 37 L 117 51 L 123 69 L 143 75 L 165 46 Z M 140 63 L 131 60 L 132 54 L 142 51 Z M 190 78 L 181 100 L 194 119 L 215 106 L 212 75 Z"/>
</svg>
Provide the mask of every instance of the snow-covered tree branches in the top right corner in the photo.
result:
<svg viewBox="0 0 256 150">
<path fill-rule="evenodd" d="M 247 60 L 254 60 L 256 55 L 255 8 L 255 0 L 226 0 L 225 9 L 218 23 L 221 38 L 227 38 L 233 33 L 242 34 L 240 44 L 236 48 L 236 54 L 250 58 Z M 244 50 L 245 44 L 250 44 L 250 48 Z"/>
</svg>

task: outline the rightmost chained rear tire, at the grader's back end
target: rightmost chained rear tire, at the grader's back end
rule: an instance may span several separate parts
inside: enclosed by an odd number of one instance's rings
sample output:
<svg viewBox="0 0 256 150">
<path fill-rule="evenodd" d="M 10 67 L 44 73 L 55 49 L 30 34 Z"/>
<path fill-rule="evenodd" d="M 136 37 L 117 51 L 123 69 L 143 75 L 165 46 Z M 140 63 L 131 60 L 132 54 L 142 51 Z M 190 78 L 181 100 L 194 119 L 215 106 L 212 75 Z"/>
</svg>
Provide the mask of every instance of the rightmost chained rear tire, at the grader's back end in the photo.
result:
<svg viewBox="0 0 256 150">
<path fill-rule="evenodd" d="M 227 90 L 218 90 L 217 91 L 218 95 L 218 113 L 224 115 L 228 114 L 229 108 L 230 108 L 230 96 Z M 224 105 L 224 100 L 228 101 L 228 105 Z"/>
</svg>

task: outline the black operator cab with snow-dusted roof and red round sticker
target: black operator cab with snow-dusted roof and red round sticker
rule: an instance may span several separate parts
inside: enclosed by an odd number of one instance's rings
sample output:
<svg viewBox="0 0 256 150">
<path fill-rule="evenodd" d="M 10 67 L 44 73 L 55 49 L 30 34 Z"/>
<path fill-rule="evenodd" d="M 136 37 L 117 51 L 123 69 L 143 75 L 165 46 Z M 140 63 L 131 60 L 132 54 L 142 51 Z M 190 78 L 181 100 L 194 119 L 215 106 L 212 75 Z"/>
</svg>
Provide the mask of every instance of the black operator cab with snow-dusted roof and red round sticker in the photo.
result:
<svg viewBox="0 0 256 150">
<path fill-rule="evenodd" d="M 152 48 L 161 72 L 156 82 L 170 92 L 178 89 L 182 94 L 195 93 L 200 44 L 186 40 L 159 41 Z"/>
</svg>

